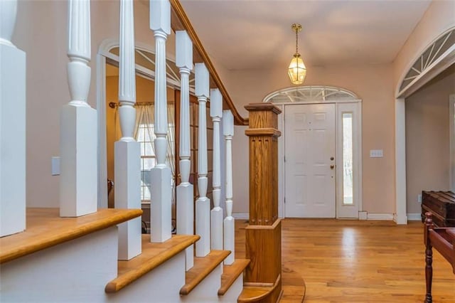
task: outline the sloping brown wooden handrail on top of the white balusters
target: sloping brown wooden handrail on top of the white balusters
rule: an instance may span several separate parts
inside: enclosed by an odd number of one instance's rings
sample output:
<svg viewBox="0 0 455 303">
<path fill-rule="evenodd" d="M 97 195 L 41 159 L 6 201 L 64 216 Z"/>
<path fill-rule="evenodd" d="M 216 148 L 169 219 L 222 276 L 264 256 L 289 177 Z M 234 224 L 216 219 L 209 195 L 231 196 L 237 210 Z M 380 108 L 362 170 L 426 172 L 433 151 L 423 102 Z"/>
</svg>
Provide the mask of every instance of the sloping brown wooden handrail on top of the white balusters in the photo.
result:
<svg viewBox="0 0 455 303">
<path fill-rule="evenodd" d="M 232 115 L 234 115 L 234 122 L 236 125 L 248 125 L 248 118 L 242 117 L 240 113 L 235 108 L 234 102 L 228 94 L 225 85 L 220 79 L 220 76 L 215 70 L 212 61 L 208 57 L 207 52 L 205 52 L 202 43 L 196 35 L 193 26 L 191 25 L 188 16 L 186 16 L 183 7 L 181 6 L 178 0 L 170 0 L 171 2 L 171 28 L 173 31 L 187 31 L 188 36 L 190 36 L 191 41 L 193 41 L 193 61 L 203 62 L 210 73 L 210 87 L 218 87 L 221 94 L 223 95 L 223 109 L 230 110 Z"/>
</svg>

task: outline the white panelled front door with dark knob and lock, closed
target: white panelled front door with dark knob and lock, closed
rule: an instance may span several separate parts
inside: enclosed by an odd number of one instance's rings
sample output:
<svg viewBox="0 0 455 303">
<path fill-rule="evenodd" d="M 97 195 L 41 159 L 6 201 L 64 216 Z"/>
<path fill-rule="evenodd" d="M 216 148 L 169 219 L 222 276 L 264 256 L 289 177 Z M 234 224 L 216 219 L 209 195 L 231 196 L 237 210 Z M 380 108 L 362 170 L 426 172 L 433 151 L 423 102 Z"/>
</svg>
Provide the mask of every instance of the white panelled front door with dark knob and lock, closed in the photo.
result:
<svg viewBox="0 0 455 303">
<path fill-rule="evenodd" d="M 335 218 L 335 104 L 287 105 L 285 214 Z"/>
</svg>

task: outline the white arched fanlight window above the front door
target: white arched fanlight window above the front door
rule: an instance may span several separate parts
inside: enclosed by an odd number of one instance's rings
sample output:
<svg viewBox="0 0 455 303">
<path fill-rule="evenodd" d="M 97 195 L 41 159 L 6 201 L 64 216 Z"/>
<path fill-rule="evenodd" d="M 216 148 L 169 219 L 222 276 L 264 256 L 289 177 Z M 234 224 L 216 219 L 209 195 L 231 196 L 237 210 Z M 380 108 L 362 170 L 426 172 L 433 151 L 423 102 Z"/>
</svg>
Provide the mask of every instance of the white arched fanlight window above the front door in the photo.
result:
<svg viewBox="0 0 455 303">
<path fill-rule="evenodd" d="M 262 102 L 327 102 L 332 100 L 358 100 L 357 95 L 339 87 L 298 86 L 287 87 L 270 93 Z"/>
</svg>

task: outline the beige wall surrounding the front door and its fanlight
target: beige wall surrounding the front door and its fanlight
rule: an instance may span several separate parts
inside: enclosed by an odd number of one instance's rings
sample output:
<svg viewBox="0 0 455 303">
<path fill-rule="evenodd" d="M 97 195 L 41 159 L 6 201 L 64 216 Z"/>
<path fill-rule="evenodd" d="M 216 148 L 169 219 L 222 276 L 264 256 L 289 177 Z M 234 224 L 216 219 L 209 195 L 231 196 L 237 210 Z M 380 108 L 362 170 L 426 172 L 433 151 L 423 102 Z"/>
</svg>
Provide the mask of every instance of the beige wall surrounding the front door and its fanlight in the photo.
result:
<svg viewBox="0 0 455 303">
<path fill-rule="evenodd" d="M 286 67 L 279 70 L 232 70 L 227 88 L 242 115 L 250 102 L 262 102 L 269 92 L 290 86 Z M 224 80 L 224 79 L 223 79 Z M 363 100 L 363 208 L 370 213 L 395 211 L 395 145 L 392 65 L 309 67 L 305 85 L 343 87 Z M 234 212 L 248 211 L 248 144 L 245 127 L 234 137 Z M 370 158 L 383 149 L 383 158 Z"/>
</svg>

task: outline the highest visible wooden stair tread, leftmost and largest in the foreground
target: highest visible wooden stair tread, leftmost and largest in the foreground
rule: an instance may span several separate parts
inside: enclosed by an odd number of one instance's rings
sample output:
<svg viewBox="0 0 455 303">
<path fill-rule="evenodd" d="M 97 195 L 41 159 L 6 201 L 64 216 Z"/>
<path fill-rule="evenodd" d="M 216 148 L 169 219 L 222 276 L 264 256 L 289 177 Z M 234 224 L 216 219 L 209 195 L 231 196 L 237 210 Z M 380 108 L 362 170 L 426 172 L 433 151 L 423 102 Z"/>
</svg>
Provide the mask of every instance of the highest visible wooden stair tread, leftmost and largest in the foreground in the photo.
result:
<svg viewBox="0 0 455 303">
<path fill-rule="evenodd" d="M 140 209 L 99 209 L 75 218 L 61 218 L 59 208 L 27 208 L 27 229 L 0 238 L 0 264 L 50 248 L 141 216 Z"/>
</svg>

